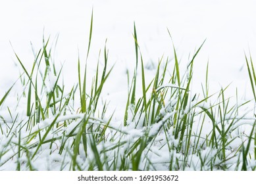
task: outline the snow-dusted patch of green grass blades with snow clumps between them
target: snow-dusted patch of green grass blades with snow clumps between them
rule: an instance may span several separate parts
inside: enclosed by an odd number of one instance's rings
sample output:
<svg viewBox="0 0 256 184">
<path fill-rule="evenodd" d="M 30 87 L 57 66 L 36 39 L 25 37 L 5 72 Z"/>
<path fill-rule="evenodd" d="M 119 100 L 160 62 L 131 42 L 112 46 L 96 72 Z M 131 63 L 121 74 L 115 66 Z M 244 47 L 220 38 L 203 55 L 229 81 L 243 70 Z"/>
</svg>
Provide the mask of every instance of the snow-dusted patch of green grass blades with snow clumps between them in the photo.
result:
<svg viewBox="0 0 256 184">
<path fill-rule="evenodd" d="M 109 66 L 107 40 L 103 68 L 100 52 L 95 76 L 88 78 L 92 33 L 93 12 L 86 60 L 78 56 L 78 83 L 71 89 L 61 83 L 62 67 L 55 66 L 50 38 L 43 36 L 30 71 L 14 52 L 23 70 L 18 79 L 22 87 L 13 91 L 16 81 L 0 98 L 0 170 L 255 170 L 256 116 L 249 115 L 256 102 L 256 75 L 251 56 L 245 62 L 254 100 L 240 103 L 237 93 L 234 102 L 226 97 L 228 87 L 210 95 L 208 64 L 202 93 L 194 94 L 193 63 L 205 41 L 182 74 L 168 32 L 174 60 L 161 57 L 155 76 L 148 79 L 134 23 L 136 67 L 132 78 L 127 71 L 126 108 L 116 121 L 107 99 L 99 100 L 115 67 Z M 17 112 L 8 103 L 13 94 Z"/>
</svg>

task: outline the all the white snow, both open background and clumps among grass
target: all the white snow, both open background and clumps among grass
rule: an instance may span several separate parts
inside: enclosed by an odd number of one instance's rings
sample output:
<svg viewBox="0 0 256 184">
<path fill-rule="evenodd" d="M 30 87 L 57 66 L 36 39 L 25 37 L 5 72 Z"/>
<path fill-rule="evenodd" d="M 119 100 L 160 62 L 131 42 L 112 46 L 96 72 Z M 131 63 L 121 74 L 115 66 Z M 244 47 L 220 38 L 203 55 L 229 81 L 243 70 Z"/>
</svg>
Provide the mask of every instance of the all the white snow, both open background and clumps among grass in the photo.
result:
<svg viewBox="0 0 256 184">
<path fill-rule="evenodd" d="M 52 54 L 55 60 L 59 62 L 56 67 L 61 68 L 63 66 L 63 76 L 61 76 L 61 79 L 66 82 L 65 88 L 71 89 L 74 83 L 78 82 L 78 50 L 82 65 L 86 58 L 90 16 L 91 10 L 93 9 L 93 34 L 90 55 L 88 57 L 88 78 L 95 74 L 95 62 L 98 60 L 99 49 L 101 49 L 102 57 L 105 39 L 107 38 L 110 62 L 108 67 L 110 68 L 114 64 L 115 67 L 112 72 L 113 75 L 109 76 L 105 84 L 103 96 L 109 101 L 108 111 L 110 113 L 115 111 L 113 122 L 109 126 L 113 129 L 121 129 L 122 133 L 126 134 L 126 137 L 123 139 L 124 142 L 127 141 L 124 144 L 124 150 L 130 146 L 128 142 L 130 143 L 132 140 L 143 137 L 146 131 L 142 126 L 142 120 L 145 114 L 141 115 L 142 118 L 138 124 L 135 125 L 131 119 L 128 119 L 130 123 L 128 127 L 122 127 L 128 96 L 126 72 L 128 70 L 130 76 L 132 76 L 136 60 L 132 35 L 134 22 L 136 24 L 140 51 L 145 62 L 146 83 L 149 83 L 153 79 L 155 66 L 157 66 L 159 58 L 169 56 L 169 59 L 171 59 L 173 57 L 172 42 L 166 29 L 168 28 L 172 35 L 177 55 L 181 58 L 179 60 L 181 73 L 187 70 L 186 64 L 188 64 L 182 62 L 182 60 L 186 61 L 188 58 L 188 60 L 191 60 L 194 51 L 206 39 L 193 66 L 193 94 L 201 93 L 201 84 L 203 83 L 203 86 L 205 84 L 205 68 L 207 62 L 209 62 L 210 94 L 219 91 L 221 87 L 226 87 L 226 85 L 231 83 L 230 87 L 226 90 L 226 97 L 235 97 L 237 87 L 239 95 L 243 97 L 242 100 L 244 102 L 253 99 L 244 53 L 248 54 L 250 51 L 252 58 L 256 57 L 256 25 L 253 24 L 253 22 L 256 22 L 255 1 L 76 0 L 70 3 L 70 1 L 63 0 L 10 0 L 1 4 L 0 98 L 5 95 L 6 91 L 8 91 L 11 85 L 18 79 L 20 73 L 22 73 L 22 70 L 19 69 L 20 66 L 16 60 L 14 51 L 20 60 L 22 60 L 24 66 L 28 68 L 28 71 L 31 71 L 34 57 L 41 47 L 43 35 L 45 37 L 50 35 L 51 39 L 57 39 L 57 35 L 59 35 L 56 51 Z M 30 42 L 33 45 L 32 48 Z M 11 45 L 13 45 L 13 48 Z M 100 65 L 102 64 L 101 61 Z M 170 71 L 172 69 L 170 68 Z M 140 78 L 140 75 L 140 72 L 138 72 L 138 78 Z M 55 76 L 53 71 L 48 69 L 46 80 L 47 93 L 53 91 L 56 81 L 57 76 Z M 88 85 L 90 86 L 90 83 Z M 176 84 L 165 83 L 155 90 L 159 91 L 165 87 L 184 89 L 182 86 L 179 87 Z M 15 90 L 20 92 L 19 95 L 22 95 L 20 88 L 15 86 Z M 142 91 L 139 91 L 138 96 L 141 93 Z M 64 97 L 68 98 L 68 95 Z M 13 106 L 16 103 L 16 99 L 16 96 L 13 96 L 12 93 L 11 97 L 3 103 L 0 109 L 0 126 L 3 124 L 12 124 L 16 117 L 25 117 L 26 101 L 20 102 L 20 104 L 24 104 L 24 108 L 17 108 Z M 58 100 L 57 98 L 56 101 Z M 166 120 L 175 113 L 173 109 L 169 112 L 168 108 L 172 108 L 177 103 L 176 99 L 168 103 L 170 104 L 166 105 L 166 109 L 161 109 L 163 119 L 150 127 L 149 137 L 158 133 Z M 192 102 L 190 105 L 192 106 L 194 104 L 195 102 Z M 42 105 L 44 106 L 45 104 Z M 205 102 L 199 104 L 200 106 L 208 109 L 212 104 L 211 102 Z M 130 106 L 129 108 L 133 107 Z M 9 109 L 12 114 L 9 113 Z M 252 114 L 248 116 L 243 116 L 241 115 L 243 112 L 240 112 L 240 116 L 236 116 L 236 119 L 241 120 L 236 122 L 232 128 L 239 128 L 241 132 L 246 129 L 248 131 L 253 125 L 253 108 L 251 112 Z M 185 113 L 188 113 L 188 107 Z M 130 118 L 130 115 L 128 114 L 128 118 Z M 84 118 L 84 114 L 61 114 L 55 123 L 77 119 L 66 127 L 66 135 L 68 135 L 80 124 L 80 119 L 82 118 Z M 233 119 L 235 117 L 234 114 L 230 113 L 226 115 L 226 118 Z M 36 133 L 39 129 L 49 126 L 54 119 L 55 116 L 41 121 L 38 126 L 34 126 L 31 133 Z M 220 122 L 220 117 L 218 117 L 218 120 Z M 95 124 L 106 124 L 101 119 L 91 117 L 91 122 L 93 121 L 95 121 Z M 174 146 L 178 145 L 178 141 L 172 136 L 172 127 L 168 131 L 169 141 Z M 248 133 L 247 131 L 245 133 Z M 205 130 L 203 134 L 207 134 L 208 132 L 209 130 Z M 14 130 L 13 133 L 15 133 Z M 53 137 L 49 135 L 46 140 L 48 138 L 51 139 Z M 159 135 L 157 141 L 160 141 L 162 138 L 166 139 L 163 135 Z M 38 138 L 33 139 L 30 145 L 33 145 L 38 140 Z M 13 139 L 12 141 L 18 143 L 18 139 Z M 236 150 L 236 143 L 239 141 L 241 140 L 233 141 L 230 147 Z M 1 148 L 5 147 L 7 143 L 8 140 L 0 133 Z M 72 143 L 67 143 L 67 145 L 70 146 Z M 58 148 L 56 147 L 56 149 Z M 99 149 L 104 150 L 105 148 L 102 146 Z M 124 150 L 120 150 L 120 152 L 124 152 Z M 161 162 L 170 162 L 168 156 L 159 156 L 159 154 L 165 153 L 164 150 L 168 152 L 166 145 L 161 151 L 157 146 L 151 148 L 151 152 L 153 152 L 151 154 L 152 162 L 156 166 Z M 1 163 L 12 158 L 12 154 L 15 151 L 11 150 L 8 154 L 4 154 L 0 160 Z M 38 156 L 42 159 L 36 160 L 33 166 L 38 170 L 59 170 L 61 168 L 59 163 L 70 161 L 68 158 L 60 157 L 55 152 L 51 154 L 49 152 L 51 150 L 40 150 Z M 82 152 L 81 157 L 78 159 L 84 162 L 82 154 L 84 153 Z M 179 155 L 180 153 L 174 154 Z M 211 157 L 214 154 L 208 147 L 201 152 L 203 158 L 207 156 Z M 24 156 L 24 159 L 26 159 L 26 156 Z M 94 157 L 91 156 L 90 159 L 93 160 Z M 195 168 L 200 168 L 197 165 L 199 163 L 198 157 L 193 156 L 191 160 Z M 52 162 L 55 162 L 55 164 L 49 164 Z M 229 160 L 229 162 L 232 163 L 232 160 Z M 84 166 L 86 164 L 88 163 L 84 163 Z M 47 168 L 50 165 L 52 168 Z M 0 166 L 0 168 L 1 170 L 15 170 L 16 163 L 9 161 L 8 164 Z M 165 170 L 166 167 L 161 165 L 159 169 Z"/>
</svg>

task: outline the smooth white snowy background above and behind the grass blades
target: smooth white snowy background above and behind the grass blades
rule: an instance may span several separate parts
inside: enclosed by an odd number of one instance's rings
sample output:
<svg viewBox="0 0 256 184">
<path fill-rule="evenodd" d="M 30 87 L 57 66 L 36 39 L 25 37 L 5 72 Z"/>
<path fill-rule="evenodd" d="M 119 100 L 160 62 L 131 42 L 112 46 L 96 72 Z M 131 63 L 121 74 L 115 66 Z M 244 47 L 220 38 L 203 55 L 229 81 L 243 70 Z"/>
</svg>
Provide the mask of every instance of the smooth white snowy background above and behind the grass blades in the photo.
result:
<svg viewBox="0 0 256 184">
<path fill-rule="evenodd" d="M 186 66 L 190 53 L 207 39 L 195 60 L 193 91 L 201 91 L 209 61 L 211 92 L 232 83 L 227 96 L 236 95 L 238 87 L 240 98 L 253 98 L 245 66 L 245 53 L 250 51 L 256 60 L 256 2 L 253 0 L 0 1 L 0 97 L 19 75 L 14 51 L 26 67 L 32 67 L 34 55 L 30 42 L 36 50 L 41 48 L 43 32 L 45 37 L 51 35 L 51 39 L 59 34 L 55 62 L 64 63 L 65 85 L 77 83 L 78 50 L 85 61 L 93 9 L 88 70 L 91 74 L 95 72 L 93 65 L 107 39 L 109 65 L 115 64 L 115 68 L 104 93 L 111 102 L 109 108 L 116 110 L 116 119 L 124 116 L 126 69 L 132 74 L 136 62 L 134 22 L 145 64 L 156 65 L 162 55 L 173 57 L 167 28 L 181 59 L 180 70 Z M 151 79 L 154 74 L 148 70 L 146 78 Z"/>
</svg>

